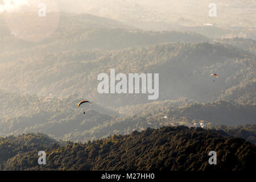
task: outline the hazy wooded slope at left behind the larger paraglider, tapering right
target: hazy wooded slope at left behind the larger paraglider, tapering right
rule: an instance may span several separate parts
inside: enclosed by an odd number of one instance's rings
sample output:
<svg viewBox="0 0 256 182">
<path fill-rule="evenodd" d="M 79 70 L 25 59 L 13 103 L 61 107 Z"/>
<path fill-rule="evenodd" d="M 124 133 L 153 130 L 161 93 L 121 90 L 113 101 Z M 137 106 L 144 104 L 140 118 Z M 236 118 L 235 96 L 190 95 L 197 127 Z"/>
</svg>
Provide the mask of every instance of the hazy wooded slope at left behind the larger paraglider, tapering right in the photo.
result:
<svg viewBox="0 0 256 182">
<path fill-rule="evenodd" d="M 66 134 L 88 131 L 119 115 L 93 101 L 92 105 L 82 105 L 79 108 L 77 104 L 81 100 L 75 95 L 60 99 L 30 95 L 19 96 L 2 92 L 0 93 L 0 102 L 2 103 L 0 106 L 0 135 L 32 132 L 64 139 Z M 95 134 L 92 135 L 93 137 Z M 76 140 L 85 139 L 76 138 Z"/>
</svg>

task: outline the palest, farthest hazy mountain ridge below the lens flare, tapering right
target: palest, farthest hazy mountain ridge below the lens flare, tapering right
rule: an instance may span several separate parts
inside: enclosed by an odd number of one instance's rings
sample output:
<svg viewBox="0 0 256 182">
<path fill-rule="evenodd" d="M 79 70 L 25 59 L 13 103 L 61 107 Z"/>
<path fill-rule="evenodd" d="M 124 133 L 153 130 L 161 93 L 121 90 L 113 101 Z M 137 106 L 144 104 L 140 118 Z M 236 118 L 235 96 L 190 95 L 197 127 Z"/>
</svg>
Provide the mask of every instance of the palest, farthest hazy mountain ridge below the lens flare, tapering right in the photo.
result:
<svg viewBox="0 0 256 182">
<path fill-rule="evenodd" d="M 27 42 L 18 39 L 15 36 L 18 33 L 13 32 L 14 30 L 11 30 L 9 24 L 6 23 L 4 16 L 0 15 L 0 32 L 2 33 L 0 34 L 0 46 L 2 47 L 0 53 L 14 51 L 19 55 L 31 56 L 31 54 L 36 55 L 38 51 L 49 53 L 71 49 L 120 49 L 172 41 L 205 42 L 208 40 L 205 36 L 192 32 L 143 31 L 113 19 L 90 14 L 52 14 L 59 17 L 59 21 L 55 25 L 56 30 L 40 42 Z M 29 22 L 30 19 L 32 21 L 35 18 L 34 14 L 14 14 L 13 16 L 10 19 L 19 19 L 19 22 L 22 19 Z M 26 29 L 33 30 L 33 26 L 36 25 L 26 24 L 26 26 L 28 26 Z M 47 26 L 47 24 L 43 26 Z M 16 27 L 16 29 L 18 28 Z M 35 29 L 35 32 L 32 31 L 31 34 L 43 34 L 38 32 L 39 30 Z"/>
</svg>

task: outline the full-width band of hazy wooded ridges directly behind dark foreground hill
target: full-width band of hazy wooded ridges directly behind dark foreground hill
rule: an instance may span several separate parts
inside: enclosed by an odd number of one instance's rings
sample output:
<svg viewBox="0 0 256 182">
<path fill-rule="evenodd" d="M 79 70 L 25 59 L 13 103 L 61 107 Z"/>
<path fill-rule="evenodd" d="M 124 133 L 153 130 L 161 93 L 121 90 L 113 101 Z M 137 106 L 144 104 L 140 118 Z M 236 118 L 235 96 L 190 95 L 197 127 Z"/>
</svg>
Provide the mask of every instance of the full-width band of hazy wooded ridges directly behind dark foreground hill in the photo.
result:
<svg viewBox="0 0 256 182">
<path fill-rule="evenodd" d="M 190 127 L 202 121 L 210 128 L 219 125 L 255 125 L 256 117 L 255 105 L 232 101 L 203 104 L 180 98 L 120 107 L 114 111 L 95 102 L 79 108 L 77 104 L 81 100 L 76 95 L 57 98 L 1 92 L 0 135 L 44 133 L 55 139 L 85 142 L 114 134 L 130 134 L 147 127 Z M 249 135 L 242 138 L 248 139 L 250 136 L 255 137 Z M 254 141 L 253 138 L 248 140 Z"/>
</svg>

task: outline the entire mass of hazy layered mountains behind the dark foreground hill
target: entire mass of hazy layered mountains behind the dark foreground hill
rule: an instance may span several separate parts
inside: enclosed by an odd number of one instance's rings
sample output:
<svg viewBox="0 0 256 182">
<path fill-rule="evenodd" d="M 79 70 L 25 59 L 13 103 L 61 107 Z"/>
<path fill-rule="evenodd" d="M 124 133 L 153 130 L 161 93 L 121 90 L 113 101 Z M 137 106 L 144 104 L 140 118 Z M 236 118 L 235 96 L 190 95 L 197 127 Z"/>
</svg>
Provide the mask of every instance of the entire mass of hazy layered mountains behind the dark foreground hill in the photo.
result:
<svg viewBox="0 0 256 182">
<path fill-rule="evenodd" d="M 41 42 L 16 38 L 2 15 L 0 31 L 3 137 L 44 133 L 87 141 L 201 120 L 209 126 L 255 124 L 254 40 L 143 31 L 66 13 Z M 159 73 L 158 100 L 148 100 L 147 94 L 98 93 L 97 76 L 109 75 L 110 69 L 126 75 Z M 220 77 L 213 82 L 211 73 Z M 93 104 L 78 108 L 85 99 Z"/>
</svg>

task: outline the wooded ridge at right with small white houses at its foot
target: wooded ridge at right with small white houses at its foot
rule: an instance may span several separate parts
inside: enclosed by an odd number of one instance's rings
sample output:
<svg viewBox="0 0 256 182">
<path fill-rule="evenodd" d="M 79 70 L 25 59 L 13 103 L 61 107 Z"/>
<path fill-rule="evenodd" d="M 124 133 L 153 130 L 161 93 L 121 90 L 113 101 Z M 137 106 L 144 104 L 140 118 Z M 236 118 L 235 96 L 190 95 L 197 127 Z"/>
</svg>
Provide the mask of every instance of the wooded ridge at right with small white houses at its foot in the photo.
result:
<svg viewBox="0 0 256 182">
<path fill-rule="evenodd" d="M 180 121 L 187 118 L 189 122 L 195 119 L 228 126 L 255 124 L 256 105 L 236 104 L 233 101 L 215 101 L 199 103 L 180 98 L 176 101 L 155 101 L 150 104 L 122 107 L 120 113 L 151 118 L 155 121 L 167 116 L 167 121 Z M 217 114 L 216 114 L 217 113 Z M 170 119 L 171 118 L 171 119 Z M 163 119 L 164 120 L 164 119 Z M 163 123 L 166 123 L 163 121 Z"/>
</svg>

